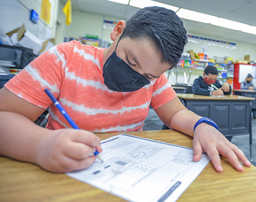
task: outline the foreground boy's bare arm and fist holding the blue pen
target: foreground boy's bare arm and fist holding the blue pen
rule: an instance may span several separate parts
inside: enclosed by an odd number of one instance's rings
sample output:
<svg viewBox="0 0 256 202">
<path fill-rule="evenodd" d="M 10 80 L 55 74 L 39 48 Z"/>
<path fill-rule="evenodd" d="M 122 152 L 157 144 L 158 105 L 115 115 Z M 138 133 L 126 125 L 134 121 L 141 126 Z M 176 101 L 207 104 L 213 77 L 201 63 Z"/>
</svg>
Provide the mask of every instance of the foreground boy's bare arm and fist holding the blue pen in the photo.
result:
<svg viewBox="0 0 256 202">
<path fill-rule="evenodd" d="M 33 123 L 44 108 L 28 103 L 3 87 L 0 90 L 0 154 L 33 162 L 52 172 L 90 166 L 102 149 L 95 134 L 75 129 L 49 130 Z"/>
</svg>

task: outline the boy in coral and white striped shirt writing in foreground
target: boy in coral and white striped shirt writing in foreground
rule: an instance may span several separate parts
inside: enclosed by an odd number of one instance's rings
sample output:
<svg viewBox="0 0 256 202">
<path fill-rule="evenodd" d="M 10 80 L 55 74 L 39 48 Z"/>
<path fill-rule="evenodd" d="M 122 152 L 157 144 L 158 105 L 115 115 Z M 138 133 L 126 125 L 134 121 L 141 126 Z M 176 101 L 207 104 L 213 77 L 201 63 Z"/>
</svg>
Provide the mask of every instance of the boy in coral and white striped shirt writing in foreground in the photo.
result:
<svg viewBox="0 0 256 202">
<path fill-rule="evenodd" d="M 108 50 L 62 43 L 6 83 L 0 90 L 0 154 L 52 172 L 80 170 L 95 161 L 90 155 L 95 149 L 102 152 L 92 132 L 141 130 L 152 105 L 166 126 L 194 137 L 194 161 L 207 152 L 218 172 L 219 154 L 238 171 L 243 171 L 238 159 L 251 165 L 214 127 L 199 124 L 201 117 L 180 103 L 163 74 L 179 62 L 187 42 L 175 12 L 139 10 L 116 24 L 111 39 Z M 70 126 L 45 95 L 46 87 L 83 130 L 64 129 Z M 46 128 L 33 124 L 48 106 Z"/>
</svg>

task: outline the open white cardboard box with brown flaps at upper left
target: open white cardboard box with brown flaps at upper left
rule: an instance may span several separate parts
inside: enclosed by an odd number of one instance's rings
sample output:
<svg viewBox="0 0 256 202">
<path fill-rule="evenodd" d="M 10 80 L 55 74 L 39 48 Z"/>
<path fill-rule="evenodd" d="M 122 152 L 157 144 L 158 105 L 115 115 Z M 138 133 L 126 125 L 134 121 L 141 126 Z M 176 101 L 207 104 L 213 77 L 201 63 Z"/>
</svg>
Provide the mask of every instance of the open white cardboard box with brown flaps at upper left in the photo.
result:
<svg viewBox="0 0 256 202">
<path fill-rule="evenodd" d="M 35 55 L 42 54 L 45 50 L 54 46 L 54 39 L 42 41 L 34 34 L 27 31 L 24 24 L 21 27 L 6 33 L 6 36 L 10 37 L 12 45 L 31 48 Z"/>
</svg>

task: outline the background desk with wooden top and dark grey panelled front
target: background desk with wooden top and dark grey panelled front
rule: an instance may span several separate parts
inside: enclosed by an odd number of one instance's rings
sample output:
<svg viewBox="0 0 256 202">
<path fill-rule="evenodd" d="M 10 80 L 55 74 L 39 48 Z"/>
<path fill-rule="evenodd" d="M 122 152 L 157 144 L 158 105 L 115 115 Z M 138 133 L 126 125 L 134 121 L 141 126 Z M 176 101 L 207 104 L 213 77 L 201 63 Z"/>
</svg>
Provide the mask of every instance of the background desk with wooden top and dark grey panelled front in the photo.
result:
<svg viewBox="0 0 256 202">
<path fill-rule="evenodd" d="M 208 117 L 225 136 L 250 134 L 250 159 L 252 161 L 252 105 L 253 97 L 244 96 L 198 96 L 177 94 L 188 110 L 202 117 Z"/>
</svg>

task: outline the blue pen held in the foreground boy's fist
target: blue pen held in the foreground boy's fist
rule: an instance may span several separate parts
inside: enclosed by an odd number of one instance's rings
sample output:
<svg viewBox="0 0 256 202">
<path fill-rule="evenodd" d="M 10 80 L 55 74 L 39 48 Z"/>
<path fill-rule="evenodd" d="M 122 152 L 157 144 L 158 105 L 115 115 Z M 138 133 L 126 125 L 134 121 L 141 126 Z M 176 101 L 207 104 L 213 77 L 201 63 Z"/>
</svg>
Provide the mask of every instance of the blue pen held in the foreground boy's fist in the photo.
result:
<svg viewBox="0 0 256 202">
<path fill-rule="evenodd" d="M 63 117 L 65 117 L 65 119 L 67 119 L 70 126 L 72 126 L 74 129 L 79 130 L 79 127 L 77 126 L 77 124 L 74 122 L 74 120 L 71 119 L 71 117 L 68 115 L 68 113 L 60 105 L 58 100 L 52 95 L 51 91 L 49 89 L 44 89 L 44 91 L 47 94 L 47 96 L 51 99 L 52 103 L 56 106 L 56 108 L 58 108 L 58 110 L 61 112 Z M 97 150 L 95 150 L 94 155 L 96 155 L 98 157 L 98 159 L 100 159 L 100 161 L 102 161 L 102 159 L 100 158 L 99 152 Z"/>
</svg>

